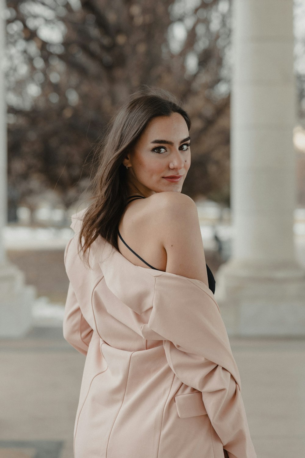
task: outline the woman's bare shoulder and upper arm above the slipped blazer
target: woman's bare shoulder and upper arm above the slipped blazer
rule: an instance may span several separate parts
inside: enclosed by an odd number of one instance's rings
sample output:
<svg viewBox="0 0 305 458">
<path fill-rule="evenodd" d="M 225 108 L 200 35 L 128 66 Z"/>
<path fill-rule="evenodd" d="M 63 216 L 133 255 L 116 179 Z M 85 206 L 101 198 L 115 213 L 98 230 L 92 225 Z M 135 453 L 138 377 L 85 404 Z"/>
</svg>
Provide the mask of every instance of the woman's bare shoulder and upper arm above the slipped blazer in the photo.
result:
<svg viewBox="0 0 305 458">
<path fill-rule="evenodd" d="M 191 197 L 178 192 L 150 196 L 150 217 L 166 250 L 166 272 L 208 284 L 198 211 Z"/>
</svg>

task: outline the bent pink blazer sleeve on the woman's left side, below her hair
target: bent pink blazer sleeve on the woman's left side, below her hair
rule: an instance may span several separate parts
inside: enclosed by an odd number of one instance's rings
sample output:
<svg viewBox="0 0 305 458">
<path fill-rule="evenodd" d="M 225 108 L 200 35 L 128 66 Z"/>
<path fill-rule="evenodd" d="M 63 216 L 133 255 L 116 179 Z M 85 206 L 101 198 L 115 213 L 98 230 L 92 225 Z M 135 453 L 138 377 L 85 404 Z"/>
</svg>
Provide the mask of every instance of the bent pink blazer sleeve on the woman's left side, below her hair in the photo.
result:
<svg viewBox="0 0 305 458">
<path fill-rule="evenodd" d="M 71 239 L 72 240 L 72 239 Z M 64 250 L 64 265 L 71 240 Z M 64 338 L 81 354 L 86 355 L 91 341 L 93 329 L 81 313 L 80 305 L 70 282 L 64 308 L 63 334 Z"/>
</svg>

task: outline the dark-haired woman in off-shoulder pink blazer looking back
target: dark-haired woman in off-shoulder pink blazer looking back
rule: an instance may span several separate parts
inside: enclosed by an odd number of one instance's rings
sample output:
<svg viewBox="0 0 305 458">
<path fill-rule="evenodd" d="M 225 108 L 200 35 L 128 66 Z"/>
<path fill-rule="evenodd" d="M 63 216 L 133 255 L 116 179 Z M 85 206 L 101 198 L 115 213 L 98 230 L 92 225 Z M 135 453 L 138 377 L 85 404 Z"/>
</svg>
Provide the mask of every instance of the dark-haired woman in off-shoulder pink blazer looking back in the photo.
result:
<svg viewBox="0 0 305 458">
<path fill-rule="evenodd" d="M 132 98 L 102 145 L 93 202 L 72 217 L 64 337 L 86 355 L 75 458 L 256 458 L 181 193 L 190 124 L 167 93 Z"/>
</svg>

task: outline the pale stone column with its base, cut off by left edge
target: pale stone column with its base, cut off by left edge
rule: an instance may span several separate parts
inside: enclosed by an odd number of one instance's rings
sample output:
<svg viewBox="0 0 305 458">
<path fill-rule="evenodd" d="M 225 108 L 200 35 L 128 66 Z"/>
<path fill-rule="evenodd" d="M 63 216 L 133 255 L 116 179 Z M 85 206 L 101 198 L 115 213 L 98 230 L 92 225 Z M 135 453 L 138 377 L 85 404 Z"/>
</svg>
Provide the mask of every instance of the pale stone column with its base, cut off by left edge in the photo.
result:
<svg viewBox="0 0 305 458">
<path fill-rule="evenodd" d="M 24 285 L 21 271 L 5 256 L 3 229 L 7 223 L 7 135 L 5 79 L 3 75 L 5 49 L 5 3 L 0 0 L 0 337 L 19 337 L 31 326 L 35 290 Z"/>
</svg>

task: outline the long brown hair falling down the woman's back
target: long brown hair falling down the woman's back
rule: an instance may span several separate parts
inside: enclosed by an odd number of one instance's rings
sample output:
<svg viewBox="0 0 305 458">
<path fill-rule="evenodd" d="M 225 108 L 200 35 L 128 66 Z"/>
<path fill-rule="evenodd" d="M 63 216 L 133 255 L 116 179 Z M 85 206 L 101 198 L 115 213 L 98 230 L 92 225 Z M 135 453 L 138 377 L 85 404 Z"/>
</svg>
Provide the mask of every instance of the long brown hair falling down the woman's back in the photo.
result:
<svg viewBox="0 0 305 458">
<path fill-rule="evenodd" d="M 88 263 L 91 244 L 101 235 L 118 250 L 118 224 L 127 204 L 127 169 L 123 159 L 132 150 L 149 121 L 180 113 L 190 129 L 191 121 L 167 91 L 145 88 L 133 94 L 115 115 L 102 142 L 97 145 L 99 164 L 92 180 L 93 202 L 82 218 L 78 246 Z M 87 252 L 87 253 L 86 253 Z"/>
</svg>

